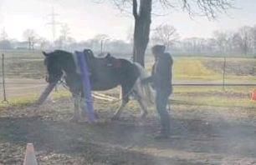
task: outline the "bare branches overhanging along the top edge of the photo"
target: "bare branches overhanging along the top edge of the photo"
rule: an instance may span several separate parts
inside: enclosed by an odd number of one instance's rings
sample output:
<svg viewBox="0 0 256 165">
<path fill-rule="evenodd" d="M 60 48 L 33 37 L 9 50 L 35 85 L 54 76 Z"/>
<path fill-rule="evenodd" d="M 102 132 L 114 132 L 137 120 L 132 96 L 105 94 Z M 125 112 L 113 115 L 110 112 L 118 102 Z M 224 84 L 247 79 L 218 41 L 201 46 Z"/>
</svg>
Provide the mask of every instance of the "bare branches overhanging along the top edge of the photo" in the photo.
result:
<svg viewBox="0 0 256 165">
<path fill-rule="evenodd" d="M 105 0 L 93 0 L 95 2 L 105 2 Z M 122 13 L 130 13 L 132 7 L 132 14 L 137 18 L 140 14 L 138 13 L 139 0 L 112 0 L 115 7 L 117 7 Z M 218 13 L 226 13 L 229 8 L 233 8 L 234 0 L 154 0 L 152 8 L 154 9 L 167 9 L 170 8 L 182 8 L 186 11 L 189 16 L 204 16 L 209 19 L 214 19 L 217 17 Z M 156 5 L 156 6 L 154 6 Z M 181 6 L 180 6 L 181 5 Z M 179 7 L 180 6 L 180 7 Z M 130 10 L 129 10 L 130 8 Z M 128 11 L 127 11 L 128 9 Z M 170 10 L 169 10 L 170 11 Z M 165 16 L 167 13 L 157 12 L 151 13 L 154 16 Z"/>
</svg>

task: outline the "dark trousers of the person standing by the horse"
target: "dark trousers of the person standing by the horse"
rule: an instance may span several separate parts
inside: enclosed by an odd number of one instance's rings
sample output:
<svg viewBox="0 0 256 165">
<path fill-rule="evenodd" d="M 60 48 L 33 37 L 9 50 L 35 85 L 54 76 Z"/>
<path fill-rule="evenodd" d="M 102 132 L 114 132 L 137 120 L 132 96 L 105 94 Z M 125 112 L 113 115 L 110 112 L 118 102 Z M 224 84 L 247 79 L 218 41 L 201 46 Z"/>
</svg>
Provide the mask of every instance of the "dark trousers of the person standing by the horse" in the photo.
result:
<svg viewBox="0 0 256 165">
<path fill-rule="evenodd" d="M 166 110 L 166 105 L 171 92 L 169 90 L 156 89 L 156 110 L 159 113 L 161 121 L 161 133 L 170 133 L 170 116 Z"/>
</svg>

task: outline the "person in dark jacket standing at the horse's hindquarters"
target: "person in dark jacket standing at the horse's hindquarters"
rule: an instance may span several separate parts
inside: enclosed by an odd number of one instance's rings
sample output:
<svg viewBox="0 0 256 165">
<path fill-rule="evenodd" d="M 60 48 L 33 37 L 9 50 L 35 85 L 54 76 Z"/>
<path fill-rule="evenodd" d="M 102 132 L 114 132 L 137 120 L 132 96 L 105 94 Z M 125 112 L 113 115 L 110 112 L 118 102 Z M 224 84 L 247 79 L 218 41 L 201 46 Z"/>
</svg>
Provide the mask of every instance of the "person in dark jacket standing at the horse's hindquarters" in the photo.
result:
<svg viewBox="0 0 256 165">
<path fill-rule="evenodd" d="M 156 90 L 156 110 L 161 121 L 161 131 L 156 138 L 168 138 L 170 135 L 170 115 L 166 110 L 168 97 L 172 93 L 172 56 L 165 52 L 166 47 L 155 45 L 151 48 L 155 57 L 151 77 L 146 77 L 142 83 L 152 82 Z"/>
</svg>

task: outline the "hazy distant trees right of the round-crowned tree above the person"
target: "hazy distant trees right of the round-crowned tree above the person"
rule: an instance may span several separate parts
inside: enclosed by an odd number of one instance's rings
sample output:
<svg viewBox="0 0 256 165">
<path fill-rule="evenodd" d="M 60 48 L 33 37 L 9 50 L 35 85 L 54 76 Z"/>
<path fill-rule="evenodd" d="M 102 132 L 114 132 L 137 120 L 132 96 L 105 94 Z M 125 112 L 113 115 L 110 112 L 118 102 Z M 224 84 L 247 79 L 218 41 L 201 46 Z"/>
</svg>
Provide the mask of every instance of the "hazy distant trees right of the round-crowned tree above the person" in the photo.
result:
<svg viewBox="0 0 256 165">
<path fill-rule="evenodd" d="M 184 38 L 173 42 L 171 49 L 197 55 L 255 55 L 256 26 L 244 26 L 235 32 L 215 31 L 210 38 Z"/>
</svg>

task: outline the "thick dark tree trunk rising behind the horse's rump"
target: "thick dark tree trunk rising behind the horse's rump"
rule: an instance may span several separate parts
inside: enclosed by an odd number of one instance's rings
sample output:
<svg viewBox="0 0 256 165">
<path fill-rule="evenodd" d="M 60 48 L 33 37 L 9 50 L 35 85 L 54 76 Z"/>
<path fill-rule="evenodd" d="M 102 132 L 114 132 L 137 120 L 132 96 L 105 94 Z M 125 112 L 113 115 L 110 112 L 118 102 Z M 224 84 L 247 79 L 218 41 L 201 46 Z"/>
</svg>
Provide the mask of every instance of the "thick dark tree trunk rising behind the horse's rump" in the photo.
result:
<svg viewBox="0 0 256 165">
<path fill-rule="evenodd" d="M 141 0 L 139 13 L 136 11 L 135 1 L 133 5 L 135 18 L 133 61 L 141 63 L 144 67 L 145 52 L 150 36 L 152 0 Z"/>
</svg>

